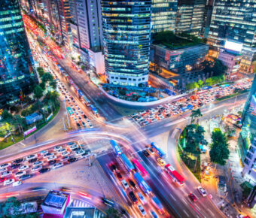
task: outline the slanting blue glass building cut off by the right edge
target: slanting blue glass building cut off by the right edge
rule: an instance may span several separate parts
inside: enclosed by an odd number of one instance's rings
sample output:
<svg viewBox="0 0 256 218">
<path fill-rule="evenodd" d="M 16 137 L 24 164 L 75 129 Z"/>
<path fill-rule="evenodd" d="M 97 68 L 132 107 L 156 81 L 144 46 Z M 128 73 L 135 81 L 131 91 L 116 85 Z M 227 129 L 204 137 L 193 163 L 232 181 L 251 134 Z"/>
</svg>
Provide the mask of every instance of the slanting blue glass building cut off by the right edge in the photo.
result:
<svg viewBox="0 0 256 218">
<path fill-rule="evenodd" d="M 242 175 L 256 183 L 256 76 L 242 111 L 238 152 L 245 165 Z"/>
</svg>

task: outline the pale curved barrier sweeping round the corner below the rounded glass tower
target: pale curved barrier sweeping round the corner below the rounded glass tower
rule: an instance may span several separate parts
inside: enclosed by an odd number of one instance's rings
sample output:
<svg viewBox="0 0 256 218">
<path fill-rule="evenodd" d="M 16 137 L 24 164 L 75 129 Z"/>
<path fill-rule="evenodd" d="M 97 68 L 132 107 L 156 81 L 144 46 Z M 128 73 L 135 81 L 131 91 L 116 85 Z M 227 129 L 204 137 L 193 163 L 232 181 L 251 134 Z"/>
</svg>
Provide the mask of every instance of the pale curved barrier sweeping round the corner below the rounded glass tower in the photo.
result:
<svg viewBox="0 0 256 218">
<path fill-rule="evenodd" d="M 108 92 L 106 92 L 104 89 L 102 89 L 101 86 L 99 86 L 99 89 L 103 92 L 103 94 L 107 97 L 110 98 L 112 101 L 116 101 L 119 104 L 125 104 L 125 105 L 129 105 L 129 106 L 137 106 L 137 107 L 154 107 L 157 106 L 157 104 L 163 104 L 166 101 L 174 101 L 175 99 L 184 97 L 185 95 L 187 95 L 187 93 L 181 94 L 181 95 L 175 95 L 175 96 L 169 96 L 166 98 L 162 98 L 160 100 L 157 101 L 150 101 L 150 102 L 135 102 L 135 101 L 126 101 L 120 98 L 116 98 L 113 95 L 108 94 Z"/>
</svg>

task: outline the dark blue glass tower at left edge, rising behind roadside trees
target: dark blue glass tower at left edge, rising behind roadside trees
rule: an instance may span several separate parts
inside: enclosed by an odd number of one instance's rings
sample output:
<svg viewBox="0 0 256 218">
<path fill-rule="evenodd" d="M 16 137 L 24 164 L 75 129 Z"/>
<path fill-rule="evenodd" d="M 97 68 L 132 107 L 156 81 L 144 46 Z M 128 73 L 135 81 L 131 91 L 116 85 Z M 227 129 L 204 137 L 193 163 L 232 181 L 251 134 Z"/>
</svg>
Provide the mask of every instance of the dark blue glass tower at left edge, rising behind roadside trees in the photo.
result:
<svg viewBox="0 0 256 218">
<path fill-rule="evenodd" d="M 32 91 L 32 62 L 18 0 L 0 1 L 0 108 Z"/>
</svg>

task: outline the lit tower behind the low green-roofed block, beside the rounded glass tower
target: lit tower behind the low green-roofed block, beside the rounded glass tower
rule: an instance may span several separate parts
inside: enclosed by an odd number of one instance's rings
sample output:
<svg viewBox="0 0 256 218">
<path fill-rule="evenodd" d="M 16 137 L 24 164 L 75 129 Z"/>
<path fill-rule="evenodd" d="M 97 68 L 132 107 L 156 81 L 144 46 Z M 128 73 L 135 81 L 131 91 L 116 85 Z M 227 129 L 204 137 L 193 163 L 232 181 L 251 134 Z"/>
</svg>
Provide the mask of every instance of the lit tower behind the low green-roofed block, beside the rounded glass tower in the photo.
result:
<svg viewBox="0 0 256 218">
<path fill-rule="evenodd" d="M 175 31 L 175 20 L 178 7 L 178 0 L 153 0 L 151 32 L 161 32 L 166 30 Z"/>
</svg>

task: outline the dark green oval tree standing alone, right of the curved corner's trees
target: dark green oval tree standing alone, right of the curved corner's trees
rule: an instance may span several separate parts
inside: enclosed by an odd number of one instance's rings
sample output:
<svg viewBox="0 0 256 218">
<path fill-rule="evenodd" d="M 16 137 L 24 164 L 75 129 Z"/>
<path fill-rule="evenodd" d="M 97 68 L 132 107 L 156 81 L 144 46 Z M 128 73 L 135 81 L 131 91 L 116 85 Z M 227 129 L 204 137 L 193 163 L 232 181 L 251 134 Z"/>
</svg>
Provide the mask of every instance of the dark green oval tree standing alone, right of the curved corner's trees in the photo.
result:
<svg viewBox="0 0 256 218">
<path fill-rule="evenodd" d="M 211 161 L 219 165 L 225 165 L 230 151 L 228 150 L 227 138 L 221 132 L 221 129 L 214 129 L 212 132 L 212 144 L 210 147 Z"/>
</svg>

